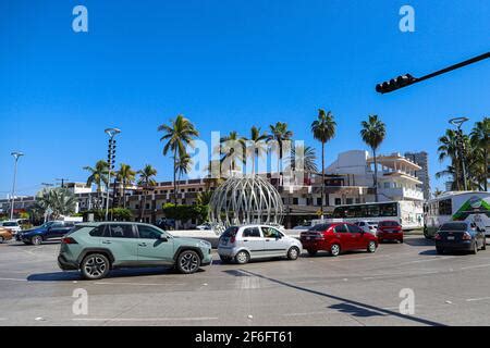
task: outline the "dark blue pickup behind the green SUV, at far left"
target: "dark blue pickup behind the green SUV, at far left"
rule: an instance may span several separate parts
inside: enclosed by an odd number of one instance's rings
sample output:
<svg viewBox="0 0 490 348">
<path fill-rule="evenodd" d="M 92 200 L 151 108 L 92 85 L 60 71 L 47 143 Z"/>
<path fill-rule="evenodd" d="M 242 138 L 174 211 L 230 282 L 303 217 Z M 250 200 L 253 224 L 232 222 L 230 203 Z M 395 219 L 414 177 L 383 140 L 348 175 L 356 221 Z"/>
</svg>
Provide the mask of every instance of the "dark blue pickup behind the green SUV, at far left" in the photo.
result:
<svg viewBox="0 0 490 348">
<path fill-rule="evenodd" d="M 16 240 L 27 245 L 40 245 L 42 241 L 60 239 L 75 226 L 71 221 L 48 221 L 38 227 L 23 231 L 15 236 Z"/>
</svg>

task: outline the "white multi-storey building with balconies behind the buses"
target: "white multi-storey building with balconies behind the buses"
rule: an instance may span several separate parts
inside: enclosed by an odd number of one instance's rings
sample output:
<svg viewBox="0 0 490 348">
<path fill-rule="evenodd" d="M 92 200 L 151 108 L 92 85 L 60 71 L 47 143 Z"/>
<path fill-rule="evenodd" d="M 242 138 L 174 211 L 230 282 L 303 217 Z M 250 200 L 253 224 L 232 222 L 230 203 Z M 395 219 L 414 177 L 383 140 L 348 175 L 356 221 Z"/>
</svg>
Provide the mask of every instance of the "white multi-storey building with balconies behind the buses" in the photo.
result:
<svg viewBox="0 0 490 348">
<path fill-rule="evenodd" d="M 378 200 L 424 200 L 424 192 L 419 188 L 422 184 L 415 172 L 421 167 L 401 156 L 392 153 L 378 156 Z M 351 150 L 338 156 L 336 161 L 330 164 L 326 172 L 330 175 L 352 174 L 356 186 L 373 187 L 375 159 L 365 150 Z M 373 201 L 375 197 L 368 197 Z"/>
</svg>

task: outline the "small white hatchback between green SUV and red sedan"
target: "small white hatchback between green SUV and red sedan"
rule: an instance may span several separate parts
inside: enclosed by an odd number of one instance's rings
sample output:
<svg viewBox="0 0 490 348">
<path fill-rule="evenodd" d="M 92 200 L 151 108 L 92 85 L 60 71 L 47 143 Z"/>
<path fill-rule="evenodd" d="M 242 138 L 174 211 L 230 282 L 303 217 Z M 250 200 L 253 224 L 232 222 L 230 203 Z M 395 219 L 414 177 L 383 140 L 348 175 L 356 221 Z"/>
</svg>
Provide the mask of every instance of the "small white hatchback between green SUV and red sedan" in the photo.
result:
<svg viewBox="0 0 490 348">
<path fill-rule="evenodd" d="M 218 245 L 221 261 L 240 264 L 275 257 L 296 260 L 301 253 L 299 240 L 269 225 L 231 226 L 220 236 Z"/>
</svg>

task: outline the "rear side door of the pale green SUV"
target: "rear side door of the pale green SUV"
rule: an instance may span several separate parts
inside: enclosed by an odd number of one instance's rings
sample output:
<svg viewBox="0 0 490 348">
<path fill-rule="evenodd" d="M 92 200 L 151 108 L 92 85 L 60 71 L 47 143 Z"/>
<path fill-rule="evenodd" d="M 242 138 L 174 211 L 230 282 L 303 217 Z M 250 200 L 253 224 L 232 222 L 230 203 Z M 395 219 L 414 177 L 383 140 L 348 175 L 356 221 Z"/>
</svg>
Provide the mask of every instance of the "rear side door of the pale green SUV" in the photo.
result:
<svg viewBox="0 0 490 348">
<path fill-rule="evenodd" d="M 138 238 L 136 238 L 133 224 L 107 224 L 102 248 L 109 249 L 114 256 L 115 264 L 131 265 L 137 263 Z"/>
</svg>

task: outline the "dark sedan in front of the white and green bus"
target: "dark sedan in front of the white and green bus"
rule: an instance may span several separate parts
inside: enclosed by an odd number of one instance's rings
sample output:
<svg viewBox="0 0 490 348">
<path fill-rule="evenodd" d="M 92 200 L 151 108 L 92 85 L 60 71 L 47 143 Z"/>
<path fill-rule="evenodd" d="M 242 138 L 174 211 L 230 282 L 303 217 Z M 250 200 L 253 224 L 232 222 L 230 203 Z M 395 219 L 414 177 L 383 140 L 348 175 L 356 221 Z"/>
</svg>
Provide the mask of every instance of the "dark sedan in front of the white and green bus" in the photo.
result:
<svg viewBox="0 0 490 348">
<path fill-rule="evenodd" d="M 448 222 L 439 227 L 433 238 L 438 253 L 456 250 L 477 253 L 478 249 L 487 249 L 485 229 L 471 222 Z"/>
</svg>

